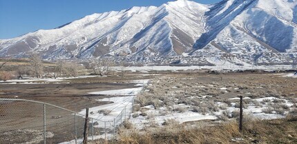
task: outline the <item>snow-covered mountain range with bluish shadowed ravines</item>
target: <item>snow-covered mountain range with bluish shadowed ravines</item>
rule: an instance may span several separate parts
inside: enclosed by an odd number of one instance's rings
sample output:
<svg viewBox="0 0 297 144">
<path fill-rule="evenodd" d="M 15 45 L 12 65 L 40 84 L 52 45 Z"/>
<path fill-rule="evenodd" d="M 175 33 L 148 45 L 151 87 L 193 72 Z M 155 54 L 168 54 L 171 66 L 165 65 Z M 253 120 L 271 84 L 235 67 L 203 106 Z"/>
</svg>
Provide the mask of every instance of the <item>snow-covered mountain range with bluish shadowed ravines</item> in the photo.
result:
<svg viewBox="0 0 297 144">
<path fill-rule="evenodd" d="M 296 0 L 178 0 L 92 14 L 52 30 L 0 40 L 0 56 L 145 63 L 293 63 L 297 58 Z"/>
</svg>

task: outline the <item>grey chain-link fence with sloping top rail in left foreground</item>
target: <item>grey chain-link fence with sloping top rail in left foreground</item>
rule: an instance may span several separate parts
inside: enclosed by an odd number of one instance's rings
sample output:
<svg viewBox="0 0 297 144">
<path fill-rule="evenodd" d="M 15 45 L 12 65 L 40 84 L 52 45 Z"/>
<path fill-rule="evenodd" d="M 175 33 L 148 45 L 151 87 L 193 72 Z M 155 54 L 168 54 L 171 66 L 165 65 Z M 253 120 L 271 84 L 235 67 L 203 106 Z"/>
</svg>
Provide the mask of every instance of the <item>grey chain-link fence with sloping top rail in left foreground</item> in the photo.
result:
<svg viewBox="0 0 297 144">
<path fill-rule="evenodd" d="M 128 100 L 108 121 L 89 117 L 89 141 L 116 137 L 119 125 L 131 116 L 133 97 Z M 82 112 L 39 101 L 0 99 L 0 143 L 82 143 L 84 123 Z"/>
</svg>

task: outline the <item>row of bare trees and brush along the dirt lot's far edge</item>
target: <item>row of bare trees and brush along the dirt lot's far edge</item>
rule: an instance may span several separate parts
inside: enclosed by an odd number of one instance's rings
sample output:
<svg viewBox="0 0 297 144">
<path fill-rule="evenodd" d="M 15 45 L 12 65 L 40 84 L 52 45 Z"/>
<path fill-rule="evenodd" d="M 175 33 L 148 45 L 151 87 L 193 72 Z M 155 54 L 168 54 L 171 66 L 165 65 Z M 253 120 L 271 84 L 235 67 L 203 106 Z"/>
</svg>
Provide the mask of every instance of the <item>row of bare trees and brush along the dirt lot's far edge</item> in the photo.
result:
<svg viewBox="0 0 297 144">
<path fill-rule="evenodd" d="M 8 63 L 9 59 L 0 63 L 0 80 L 7 81 L 9 79 L 17 78 L 23 79 L 25 76 L 40 78 L 54 78 L 62 76 L 79 76 L 86 74 L 88 71 L 86 67 L 75 61 L 55 61 L 46 65 L 42 61 L 39 54 L 32 53 L 28 57 L 27 65 L 17 65 L 15 72 L 6 72 L 3 70 L 4 65 Z M 88 63 L 88 69 L 91 70 L 91 74 L 105 76 L 110 74 L 112 61 L 106 59 L 94 59 Z"/>
</svg>

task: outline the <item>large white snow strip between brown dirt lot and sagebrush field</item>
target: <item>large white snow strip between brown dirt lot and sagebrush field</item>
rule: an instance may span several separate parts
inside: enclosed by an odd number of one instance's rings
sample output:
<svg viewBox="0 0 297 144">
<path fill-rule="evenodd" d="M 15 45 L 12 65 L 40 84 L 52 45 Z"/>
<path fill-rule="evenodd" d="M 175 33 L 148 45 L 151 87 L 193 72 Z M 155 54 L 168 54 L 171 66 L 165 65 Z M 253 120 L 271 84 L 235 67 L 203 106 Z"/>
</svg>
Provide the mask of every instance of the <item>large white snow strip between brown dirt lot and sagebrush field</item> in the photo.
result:
<svg viewBox="0 0 297 144">
<path fill-rule="evenodd" d="M 137 81 L 131 81 L 131 83 L 140 84 L 142 87 L 127 88 L 121 90 L 105 90 L 99 92 L 88 92 L 88 94 L 102 94 L 114 96 L 111 98 L 98 99 L 97 101 L 109 101 L 112 103 L 106 105 L 99 105 L 97 107 L 89 108 L 89 118 L 93 119 L 93 123 L 97 123 L 94 127 L 106 128 L 112 130 L 114 126 L 120 125 L 125 119 L 128 119 L 132 112 L 132 102 L 136 94 L 143 90 L 143 86 L 147 85 L 148 79 L 142 79 Z M 84 115 L 86 110 L 82 110 L 78 114 Z M 105 113 L 105 114 L 104 114 Z M 91 121 L 91 120 L 90 120 Z M 102 134 L 94 136 L 94 139 L 99 138 L 111 138 L 113 134 Z M 91 139 L 91 137 L 88 137 Z M 82 143 L 82 139 L 77 140 L 78 143 Z M 72 144 L 75 140 L 64 142 L 61 144 Z"/>
</svg>

